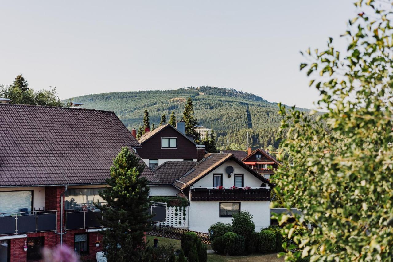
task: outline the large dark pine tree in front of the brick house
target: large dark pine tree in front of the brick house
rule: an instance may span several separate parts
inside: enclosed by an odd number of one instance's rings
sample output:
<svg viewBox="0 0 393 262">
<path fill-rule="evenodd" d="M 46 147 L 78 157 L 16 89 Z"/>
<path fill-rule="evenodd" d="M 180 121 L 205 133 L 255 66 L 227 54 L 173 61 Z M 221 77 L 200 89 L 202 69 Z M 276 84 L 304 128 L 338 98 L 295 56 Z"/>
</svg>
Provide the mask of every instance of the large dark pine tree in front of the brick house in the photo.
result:
<svg viewBox="0 0 393 262">
<path fill-rule="evenodd" d="M 110 229 L 102 231 L 108 262 L 135 261 L 145 249 L 150 216 L 148 181 L 141 176 L 144 168 L 132 149 L 122 148 L 110 168 L 109 187 L 99 193 L 108 203 L 96 205 L 103 212 L 101 223 Z"/>
</svg>

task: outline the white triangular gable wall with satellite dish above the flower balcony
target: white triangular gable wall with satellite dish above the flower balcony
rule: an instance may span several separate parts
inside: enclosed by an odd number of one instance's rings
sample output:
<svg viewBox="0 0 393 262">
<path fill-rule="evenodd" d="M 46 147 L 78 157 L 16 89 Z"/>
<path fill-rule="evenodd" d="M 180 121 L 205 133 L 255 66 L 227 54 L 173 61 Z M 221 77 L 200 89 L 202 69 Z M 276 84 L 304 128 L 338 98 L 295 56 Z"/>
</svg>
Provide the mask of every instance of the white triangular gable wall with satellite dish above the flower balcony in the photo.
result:
<svg viewBox="0 0 393 262">
<path fill-rule="evenodd" d="M 233 166 L 233 173 L 230 178 L 228 178 L 228 174 L 225 171 L 227 166 Z M 222 185 L 225 188 L 230 188 L 235 185 L 235 174 L 244 174 L 244 186 L 260 187 L 263 183 L 255 177 L 255 175 L 252 175 L 235 161 L 226 161 L 224 164 L 213 170 L 213 172 L 210 172 L 208 175 L 197 181 L 194 186 L 213 187 L 213 173 L 222 173 Z"/>
</svg>

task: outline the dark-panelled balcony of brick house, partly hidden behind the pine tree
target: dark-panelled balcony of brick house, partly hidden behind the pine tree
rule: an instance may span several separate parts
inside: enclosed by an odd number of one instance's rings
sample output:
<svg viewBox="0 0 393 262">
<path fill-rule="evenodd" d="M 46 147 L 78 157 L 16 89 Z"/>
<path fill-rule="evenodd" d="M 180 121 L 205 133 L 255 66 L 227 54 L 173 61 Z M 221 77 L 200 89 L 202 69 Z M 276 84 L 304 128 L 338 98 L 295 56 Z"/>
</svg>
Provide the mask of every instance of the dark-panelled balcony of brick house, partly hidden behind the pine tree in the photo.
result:
<svg viewBox="0 0 393 262">
<path fill-rule="evenodd" d="M 106 205 L 106 203 L 101 203 Z M 167 218 L 167 204 L 151 202 L 148 210 L 149 214 L 153 215 L 151 222 L 163 222 Z M 106 227 L 101 225 L 103 220 L 101 210 L 94 205 L 78 204 L 71 209 L 66 210 L 66 229 L 89 229 L 97 227 Z"/>
</svg>

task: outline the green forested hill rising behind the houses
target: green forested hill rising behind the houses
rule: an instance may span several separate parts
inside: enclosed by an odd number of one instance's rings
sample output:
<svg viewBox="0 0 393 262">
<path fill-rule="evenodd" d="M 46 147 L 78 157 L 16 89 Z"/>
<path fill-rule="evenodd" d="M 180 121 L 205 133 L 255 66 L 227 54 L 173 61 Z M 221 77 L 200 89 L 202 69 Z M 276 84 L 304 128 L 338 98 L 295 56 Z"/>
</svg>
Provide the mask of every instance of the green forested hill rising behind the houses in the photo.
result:
<svg viewBox="0 0 393 262">
<path fill-rule="evenodd" d="M 245 148 L 247 131 L 250 131 L 253 146 L 265 148 L 272 144 L 277 147 L 275 137 L 281 121 L 277 103 L 235 89 L 187 87 L 165 91 L 114 92 L 79 96 L 73 101 L 84 103 L 84 108 L 114 111 L 129 129 L 138 129 L 145 109 L 149 111 L 151 125 L 154 123 L 158 126 L 162 114 L 166 114 L 169 121 L 172 111 L 180 120 L 185 99 L 189 96 L 193 99 L 198 123 L 213 128 L 219 146 L 226 145 L 229 134 L 230 144 Z"/>
</svg>

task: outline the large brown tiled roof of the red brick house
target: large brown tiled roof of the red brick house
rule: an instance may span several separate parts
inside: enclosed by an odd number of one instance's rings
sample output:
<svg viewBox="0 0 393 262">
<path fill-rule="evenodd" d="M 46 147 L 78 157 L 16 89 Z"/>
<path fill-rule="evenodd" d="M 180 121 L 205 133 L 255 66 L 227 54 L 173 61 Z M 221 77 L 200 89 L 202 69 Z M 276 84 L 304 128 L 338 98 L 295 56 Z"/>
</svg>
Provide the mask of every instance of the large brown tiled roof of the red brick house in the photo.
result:
<svg viewBox="0 0 393 262">
<path fill-rule="evenodd" d="M 0 186 L 105 183 L 124 146 L 141 145 L 113 112 L 0 103 Z"/>
</svg>

